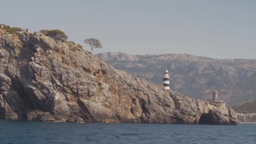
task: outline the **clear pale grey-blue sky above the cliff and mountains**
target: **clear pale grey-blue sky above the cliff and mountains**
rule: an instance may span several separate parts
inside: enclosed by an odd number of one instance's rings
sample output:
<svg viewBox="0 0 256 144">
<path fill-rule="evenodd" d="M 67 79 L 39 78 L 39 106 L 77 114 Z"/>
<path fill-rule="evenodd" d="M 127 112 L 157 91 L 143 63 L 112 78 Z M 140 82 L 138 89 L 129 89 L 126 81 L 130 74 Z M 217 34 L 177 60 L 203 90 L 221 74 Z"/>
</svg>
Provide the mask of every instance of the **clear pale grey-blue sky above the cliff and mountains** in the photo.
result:
<svg viewBox="0 0 256 144">
<path fill-rule="evenodd" d="M 256 0 L 1 0 L 0 23 L 98 38 L 94 53 L 256 59 Z"/>
</svg>

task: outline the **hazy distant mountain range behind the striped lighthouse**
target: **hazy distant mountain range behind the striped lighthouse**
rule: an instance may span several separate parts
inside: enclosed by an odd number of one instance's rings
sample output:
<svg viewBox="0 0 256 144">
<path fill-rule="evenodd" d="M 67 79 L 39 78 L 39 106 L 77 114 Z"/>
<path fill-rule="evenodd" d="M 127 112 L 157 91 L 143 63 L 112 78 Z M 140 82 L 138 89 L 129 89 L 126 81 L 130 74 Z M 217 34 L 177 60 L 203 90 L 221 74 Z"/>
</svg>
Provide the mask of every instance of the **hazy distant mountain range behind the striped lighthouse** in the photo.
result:
<svg viewBox="0 0 256 144">
<path fill-rule="evenodd" d="M 190 54 L 131 55 L 120 52 L 98 56 L 116 69 L 162 84 L 168 69 L 171 88 L 195 99 L 210 99 L 213 90 L 227 106 L 256 100 L 256 59 L 211 59 Z"/>
</svg>

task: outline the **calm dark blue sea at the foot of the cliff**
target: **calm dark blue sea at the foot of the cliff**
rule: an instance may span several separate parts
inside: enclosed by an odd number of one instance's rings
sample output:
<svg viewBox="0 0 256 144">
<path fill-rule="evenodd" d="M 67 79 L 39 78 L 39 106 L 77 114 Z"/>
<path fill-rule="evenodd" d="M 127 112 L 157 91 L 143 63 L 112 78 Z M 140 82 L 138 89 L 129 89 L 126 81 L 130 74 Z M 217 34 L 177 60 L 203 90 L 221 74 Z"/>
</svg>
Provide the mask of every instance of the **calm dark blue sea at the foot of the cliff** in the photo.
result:
<svg viewBox="0 0 256 144">
<path fill-rule="evenodd" d="M 0 120 L 0 144 L 256 144 L 256 124 L 181 125 Z"/>
</svg>

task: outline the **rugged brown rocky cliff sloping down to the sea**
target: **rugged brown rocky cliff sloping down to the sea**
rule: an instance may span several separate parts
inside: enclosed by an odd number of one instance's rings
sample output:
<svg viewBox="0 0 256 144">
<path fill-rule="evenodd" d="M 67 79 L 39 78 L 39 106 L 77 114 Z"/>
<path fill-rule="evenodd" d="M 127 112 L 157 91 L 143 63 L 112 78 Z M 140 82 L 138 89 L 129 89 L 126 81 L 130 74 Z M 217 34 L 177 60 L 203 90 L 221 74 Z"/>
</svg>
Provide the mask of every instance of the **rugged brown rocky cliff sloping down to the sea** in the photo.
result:
<svg viewBox="0 0 256 144">
<path fill-rule="evenodd" d="M 73 44 L 53 40 L 40 32 L 8 35 L 4 31 L 0 31 L 0 117 L 237 123 L 235 112 L 223 105 L 164 91 L 114 69 Z"/>
</svg>

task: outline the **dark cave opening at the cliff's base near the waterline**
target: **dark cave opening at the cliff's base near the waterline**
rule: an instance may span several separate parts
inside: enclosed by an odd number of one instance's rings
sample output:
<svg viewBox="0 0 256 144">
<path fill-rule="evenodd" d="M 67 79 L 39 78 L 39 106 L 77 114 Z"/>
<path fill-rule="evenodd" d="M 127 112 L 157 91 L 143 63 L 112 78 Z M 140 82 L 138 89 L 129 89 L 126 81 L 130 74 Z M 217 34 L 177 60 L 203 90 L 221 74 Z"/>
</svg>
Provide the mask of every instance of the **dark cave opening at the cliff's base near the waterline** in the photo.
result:
<svg viewBox="0 0 256 144">
<path fill-rule="evenodd" d="M 213 113 L 203 114 L 199 119 L 199 124 L 201 125 L 219 125 L 217 117 Z"/>
</svg>

